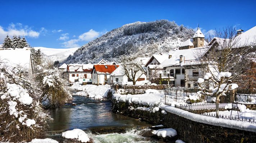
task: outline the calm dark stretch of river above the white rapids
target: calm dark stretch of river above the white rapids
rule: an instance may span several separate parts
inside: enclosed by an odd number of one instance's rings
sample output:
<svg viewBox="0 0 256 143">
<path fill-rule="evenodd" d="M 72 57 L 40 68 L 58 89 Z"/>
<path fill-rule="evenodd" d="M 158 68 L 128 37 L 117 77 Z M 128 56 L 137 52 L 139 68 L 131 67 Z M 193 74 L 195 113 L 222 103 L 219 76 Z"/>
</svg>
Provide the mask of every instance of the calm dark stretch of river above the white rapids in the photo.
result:
<svg viewBox="0 0 256 143">
<path fill-rule="evenodd" d="M 65 105 L 56 110 L 50 110 L 54 119 L 49 121 L 49 132 L 63 132 L 79 128 L 118 127 L 118 126 L 150 126 L 134 118 L 112 113 L 110 102 L 94 100 L 87 97 L 73 97 L 73 103 L 77 105 Z"/>
</svg>

